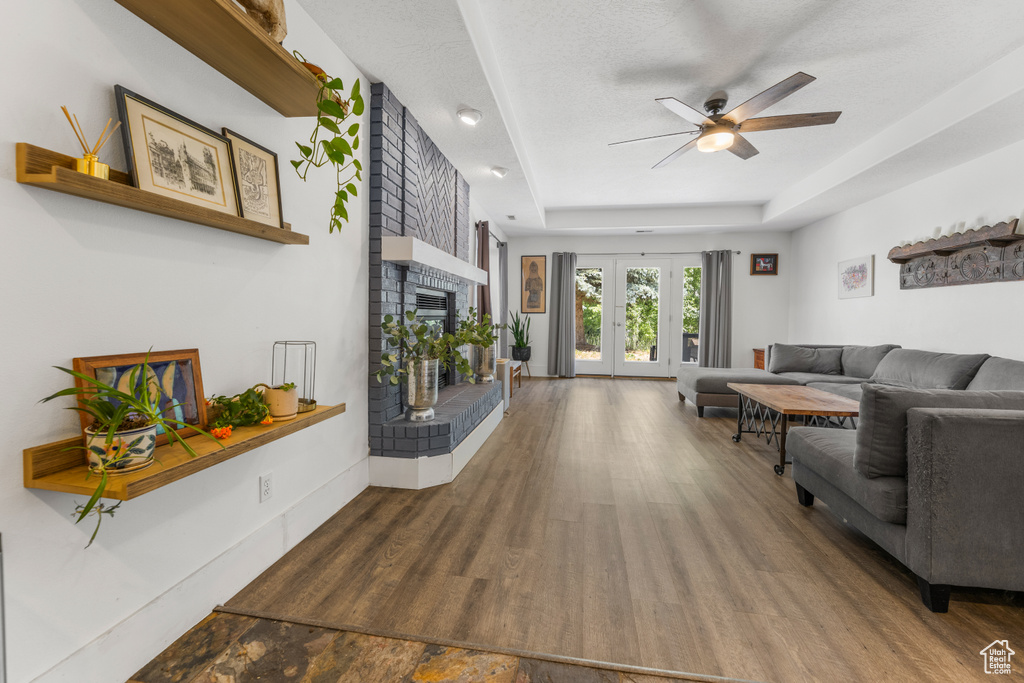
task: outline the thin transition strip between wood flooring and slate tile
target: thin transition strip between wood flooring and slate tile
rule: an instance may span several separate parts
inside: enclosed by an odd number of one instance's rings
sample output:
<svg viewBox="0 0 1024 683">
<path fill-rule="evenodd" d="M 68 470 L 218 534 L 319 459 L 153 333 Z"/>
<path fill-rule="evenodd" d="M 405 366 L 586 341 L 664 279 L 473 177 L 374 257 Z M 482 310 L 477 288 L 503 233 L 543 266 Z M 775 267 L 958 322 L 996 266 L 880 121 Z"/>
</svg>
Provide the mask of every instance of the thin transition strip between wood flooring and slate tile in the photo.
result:
<svg viewBox="0 0 1024 683">
<path fill-rule="evenodd" d="M 495 652 L 497 654 L 507 654 L 509 656 L 525 657 L 527 659 L 543 659 L 545 661 L 577 665 L 581 667 L 590 667 L 592 669 L 604 669 L 607 671 L 614 671 L 624 674 L 634 674 L 637 676 L 659 676 L 662 678 L 669 678 L 677 681 L 701 681 L 703 683 L 724 683 L 724 682 L 753 683 L 753 681 L 749 681 L 746 679 L 741 679 L 741 678 L 727 678 L 723 676 L 711 676 L 707 674 L 691 674 L 689 672 L 670 671 L 667 669 L 649 669 L 647 667 L 636 667 L 633 665 L 614 664 L 612 661 L 600 661 L 597 659 L 585 659 L 582 657 L 571 657 L 562 654 L 549 654 L 547 652 L 530 652 L 529 650 L 520 650 L 512 647 L 502 647 L 500 645 L 485 645 L 483 643 L 473 643 L 462 640 L 454 640 L 451 638 L 437 638 L 434 636 L 422 636 L 416 634 L 402 633 L 399 631 L 390 631 L 387 629 L 374 629 L 371 627 L 353 626 L 351 624 L 343 624 L 340 622 L 330 622 L 330 621 L 315 620 L 308 617 L 290 616 L 288 614 L 276 614 L 272 612 L 261 611 L 258 609 L 245 609 L 241 607 L 231 607 L 229 605 L 218 605 L 217 607 L 214 608 L 214 611 L 224 612 L 227 614 L 239 614 L 241 616 L 252 616 L 254 618 L 266 618 L 275 622 L 289 622 L 291 624 L 301 624 L 302 626 L 311 626 L 317 629 L 349 631 L 352 633 L 361 633 L 367 636 L 376 636 L 378 638 L 394 638 L 396 640 L 415 640 L 417 642 L 427 643 L 428 645 L 440 645 L 441 647 L 459 647 L 467 650 L 482 650 L 484 652 Z"/>
</svg>

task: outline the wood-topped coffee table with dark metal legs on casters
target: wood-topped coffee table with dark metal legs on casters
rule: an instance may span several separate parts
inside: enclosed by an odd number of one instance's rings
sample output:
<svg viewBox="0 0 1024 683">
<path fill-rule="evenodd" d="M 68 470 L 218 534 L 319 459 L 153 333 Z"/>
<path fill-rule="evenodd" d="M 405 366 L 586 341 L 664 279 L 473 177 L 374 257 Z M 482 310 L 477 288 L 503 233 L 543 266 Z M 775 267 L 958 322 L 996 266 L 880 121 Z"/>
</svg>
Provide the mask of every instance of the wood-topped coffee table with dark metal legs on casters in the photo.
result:
<svg viewBox="0 0 1024 683">
<path fill-rule="evenodd" d="M 839 418 L 839 426 L 847 418 L 860 415 L 860 403 L 844 396 L 805 386 L 784 384 L 733 384 L 727 385 L 739 394 L 739 415 L 736 433 L 732 440 L 739 442 L 743 434 L 764 435 L 765 440 L 778 445 L 778 465 L 775 474 L 785 473 L 785 435 L 790 431 L 790 418 L 800 416 L 807 424 L 809 417 Z"/>
</svg>

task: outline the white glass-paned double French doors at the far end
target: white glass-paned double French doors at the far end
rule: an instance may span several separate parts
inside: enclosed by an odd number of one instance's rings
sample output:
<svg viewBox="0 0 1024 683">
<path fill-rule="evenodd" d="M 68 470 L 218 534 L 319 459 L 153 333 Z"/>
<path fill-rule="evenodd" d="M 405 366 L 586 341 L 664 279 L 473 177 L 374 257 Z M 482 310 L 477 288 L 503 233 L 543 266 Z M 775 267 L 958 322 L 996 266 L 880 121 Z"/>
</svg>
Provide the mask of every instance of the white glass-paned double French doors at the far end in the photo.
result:
<svg viewBox="0 0 1024 683">
<path fill-rule="evenodd" d="M 577 374 L 671 375 L 682 348 L 674 331 L 681 315 L 672 315 L 682 300 L 674 284 L 681 288 L 682 278 L 673 266 L 668 258 L 578 260 Z"/>
</svg>

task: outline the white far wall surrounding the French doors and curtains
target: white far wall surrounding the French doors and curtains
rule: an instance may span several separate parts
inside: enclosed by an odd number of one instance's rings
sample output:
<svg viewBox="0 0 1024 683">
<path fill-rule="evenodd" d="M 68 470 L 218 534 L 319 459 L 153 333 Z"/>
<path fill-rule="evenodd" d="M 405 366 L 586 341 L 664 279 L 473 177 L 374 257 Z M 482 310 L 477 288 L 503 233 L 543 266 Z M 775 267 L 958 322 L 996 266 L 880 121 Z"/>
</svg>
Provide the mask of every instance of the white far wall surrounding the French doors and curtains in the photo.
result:
<svg viewBox="0 0 1024 683">
<path fill-rule="evenodd" d="M 524 255 L 546 254 L 548 291 L 547 313 L 531 313 L 529 361 L 538 376 L 547 374 L 548 329 L 551 319 L 551 254 L 553 252 L 632 253 L 684 252 L 732 249 L 742 253 L 733 256 L 732 290 L 732 365 L 753 368 L 752 349 L 787 340 L 790 315 L 790 255 L 788 232 L 722 233 L 722 234 L 636 234 L 624 237 L 544 237 L 509 239 L 509 307 L 521 311 L 521 266 Z M 751 253 L 778 253 L 778 275 L 751 275 Z M 581 256 L 582 258 L 582 256 Z M 507 351 L 506 351 L 507 352 Z M 673 366 L 678 359 L 673 359 Z M 675 368 L 672 369 L 675 375 Z"/>
</svg>

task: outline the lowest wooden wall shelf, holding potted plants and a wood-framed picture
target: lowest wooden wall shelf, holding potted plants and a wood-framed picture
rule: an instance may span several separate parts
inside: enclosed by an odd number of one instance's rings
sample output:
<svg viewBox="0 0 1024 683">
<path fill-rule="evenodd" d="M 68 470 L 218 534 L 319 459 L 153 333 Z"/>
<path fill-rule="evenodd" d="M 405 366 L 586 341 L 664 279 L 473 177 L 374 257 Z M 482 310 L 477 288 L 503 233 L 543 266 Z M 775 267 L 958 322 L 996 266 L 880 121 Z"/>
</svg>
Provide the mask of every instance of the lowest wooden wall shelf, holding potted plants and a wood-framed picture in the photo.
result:
<svg viewBox="0 0 1024 683">
<path fill-rule="evenodd" d="M 158 462 L 144 470 L 111 476 L 103 498 L 130 501 L 344 412 L 344 403 L 318 405 L 315 411 L 300 413 L 297 418 L 287 422 L 239 427 L 229 437 L 217 442 L 196 434 L 188 438 L 188 444 L 198 454 L 196 458 L 190 458 L 180 443 L 159 445 L 154 454 Z M 224 445 L 223 449 L 220 447 L 221 444 Z M 76 436 L 26 449 L 25 487 L 92 496 L 99 483 L 99 476 L 89 474 L 85 454 L 81 449 L 74 447 L 81 445 L 82 437 Z"/>
</svg>

